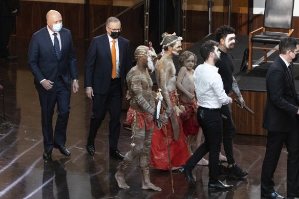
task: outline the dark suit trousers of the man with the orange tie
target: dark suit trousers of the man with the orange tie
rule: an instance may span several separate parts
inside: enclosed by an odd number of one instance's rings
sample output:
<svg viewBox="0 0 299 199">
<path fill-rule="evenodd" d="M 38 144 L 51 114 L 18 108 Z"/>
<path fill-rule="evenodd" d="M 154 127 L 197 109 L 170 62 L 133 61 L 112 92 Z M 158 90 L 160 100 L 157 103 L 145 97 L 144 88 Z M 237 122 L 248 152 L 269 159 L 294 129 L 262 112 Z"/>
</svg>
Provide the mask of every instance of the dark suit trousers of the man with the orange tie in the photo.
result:
<svg viewBox="0 0 299 199">
<path fill-rule="evenodd" d="M 100 86 L 100 85 L 99 85 Z M 112 79 L 109 91 L 105 95 L 94 94 L 93 115 L 90 119 L 88 145 L 94 145 L 97 131 L 105 119 L 107 109 L 110 114 L 109 122 L 109 148 L 117 150 L 120 132 L 120 114 L 122 105 L 122 88 L 120 78 Z"/>
</svg>

